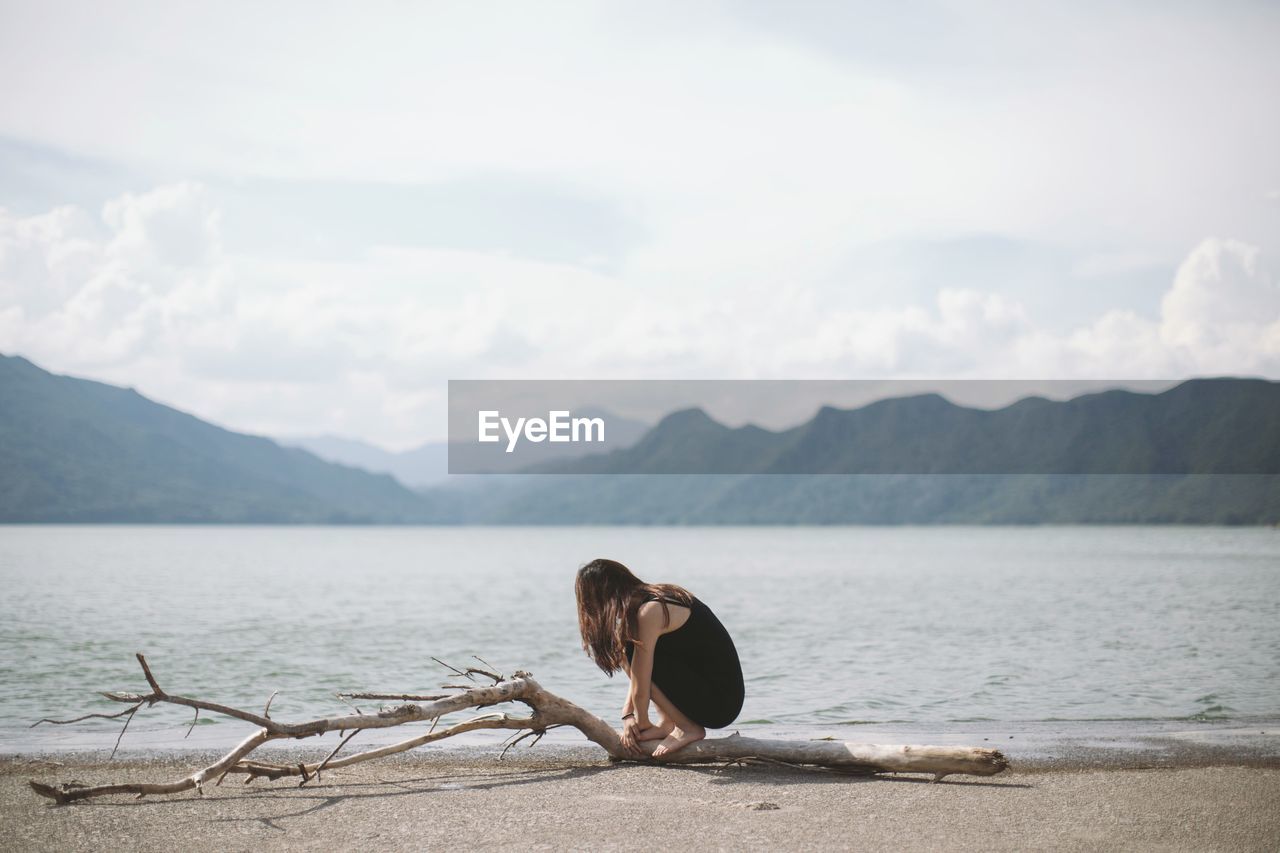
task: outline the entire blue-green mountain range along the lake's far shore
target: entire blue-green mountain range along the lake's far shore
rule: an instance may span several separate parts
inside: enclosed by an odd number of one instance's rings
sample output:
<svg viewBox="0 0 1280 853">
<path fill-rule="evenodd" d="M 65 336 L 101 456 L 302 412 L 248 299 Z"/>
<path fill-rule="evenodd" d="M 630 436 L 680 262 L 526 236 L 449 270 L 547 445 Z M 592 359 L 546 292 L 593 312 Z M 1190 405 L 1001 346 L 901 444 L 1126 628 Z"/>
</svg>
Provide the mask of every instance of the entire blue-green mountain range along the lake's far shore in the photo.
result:
<svg viewBox="0 0 1280 853">
<path fill-rule="evenodd" d="M 995 411 L 909 397 L 823 409 L 780 432 L 685 410 L 628 447 L 543 474 L 421 492 L 18 356 L 0 356 L 0 521 L 10 523 L 1280 520 L 1280 383 L 1252 379 Z"/>
</svg>

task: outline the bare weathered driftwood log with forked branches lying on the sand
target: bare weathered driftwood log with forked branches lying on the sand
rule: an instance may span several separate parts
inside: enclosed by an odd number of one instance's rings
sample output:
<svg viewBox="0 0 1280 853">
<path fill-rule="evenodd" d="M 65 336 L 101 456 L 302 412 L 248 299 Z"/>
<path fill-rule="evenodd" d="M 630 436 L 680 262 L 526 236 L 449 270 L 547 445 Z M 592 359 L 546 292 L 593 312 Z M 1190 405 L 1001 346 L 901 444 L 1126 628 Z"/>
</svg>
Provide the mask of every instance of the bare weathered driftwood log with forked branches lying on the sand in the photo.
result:
<svg viewBox="0 0 1280 853">
<path fill-rule="evenodd" d="M 244 776 L 244 784 L 259 777 L 269 780 L 298 777 L 298 784 L 305 785 L 312 779 L 319 779 L 323 771 L 338 770 L 406 752 L 415 747 L 443 740 L 465 731 L 476 731 L 480 729 L 511 730 L 513 735 L 507 743 L 507 748 L 509 749 L 526 738 L 532 738 L 532 743 L 536 743 L 548 729 L 559 726 L 577 729 L 589 740 L 603 748 L 613 761 L 649 761 L 653 763 L 682 765 L 765 762 L 863 774 L 932 774 L 934 781 L 952 774 L 991 776 L 1009 767 L 1009 762 L 996 749 L 975 747 L 887 747 L 832 740 L 760 740 L 756 738 L 744 738 L 736 733 L 727 738 L 700 740 L 678 752 L 664 756 L 660 761 L 637 758 L 623 748 L 621 736 L 609 724 L 572 702 L 549 693 L 527 672 L 516 672 L 504 676 L 476 667 L 461 670 L 448 667 L 457 676 L 467 679 L 471 683 L 448 685 L 445 689 L 453 690 L 452 693 L 438 695 L 340 693 L 338 695 L 343 699 L 393 701 L 399 702 L 399 704 L 384 707 L 376 713 L 362 713 L 356 710 L 355 713 L 343 716 L 323 717 L 305 722 L 282 722 L 270 717 L 270 699 L 268 699 L 262 713 L 253 713 L 252 711 L 242 711 L 216 702 L 166 693 L 152 675 L 146 658 L 142 654 L 138 654 L 137 658 L 151 692 L 102 693 L 104 697 L 113 702 L 128 704 L 128 708 L 110 715 L 90 713 L 74 720 L 40 720 L 35 725 L 40 725 L 40 722 L 68 725 L 91 717 L 124 717 L 124 727 L 120 730 L 120 736 L 123 736 L 124 730 L 128 729 L 129 720 L 133 719 L 133 715 L 138 710 L 157 703 L 169 703 L 195 710 L 196 719 L 192 720 L 192 726 L 195 726 L 196 720 L 200 719 L 200 713 L 204 711 L 251 722 L 257 726 L 257 730 L 241 740 L 230 752 L 214 763 L 180 779 L 172 781 L 131 781 L 109 785 L 82 785 L 78 783 L 51 785 L 31 780 L 31 788 L 37 794 L 58 803 L 69 803 L 106 794 L 136 794 L 140 798 L 148 794 L 178 794 L 186 790 L 195 790 L 197 794 L 202 794 L 206 784 L 220 785 L 224 779 L 233 775 Z M 488 684 L 479 684 L 476 683 L 477 679 L 485 679 Z M 529 708 L 529 712 L 525 715 L 512 715 L 500 711 L 483 713 L 445 727 L 439 727 L 440 719 L 447 715 L 468 708 L 486 708 L 508 703 L 524 704 Z M 367 729 L 390 729 L 410 722 L 430 722 L 431 727 L 426 733 L 398 743 L 338 757 L 342 748 L 361 731 Z M 321 761 L 282 765 L 250 760 L 250 754 L 269 740 L 314 738 L 328 731 L 343 733 L 344 736 Z M 119 743 L 118 738 L 116 747 L 119 747 Z M 640 745 L 646 752 L 652 752 L 657 747 L 657 743 L 643 742 Z"/>
</svg>

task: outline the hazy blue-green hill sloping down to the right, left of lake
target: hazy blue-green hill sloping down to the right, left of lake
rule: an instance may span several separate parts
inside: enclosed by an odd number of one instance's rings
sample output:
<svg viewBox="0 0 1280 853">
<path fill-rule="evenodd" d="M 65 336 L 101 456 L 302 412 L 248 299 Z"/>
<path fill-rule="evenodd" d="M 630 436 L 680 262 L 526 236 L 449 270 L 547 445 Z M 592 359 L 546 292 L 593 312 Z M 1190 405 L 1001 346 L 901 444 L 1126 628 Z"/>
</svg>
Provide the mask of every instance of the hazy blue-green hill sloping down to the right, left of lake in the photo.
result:
<svg viewBox="0 0 1280 853">
<path fill-rule="evenodd" d="M 403 523 L 430 502 L 136 391 L 0 356 L 0 520 Z"/>
</svg>

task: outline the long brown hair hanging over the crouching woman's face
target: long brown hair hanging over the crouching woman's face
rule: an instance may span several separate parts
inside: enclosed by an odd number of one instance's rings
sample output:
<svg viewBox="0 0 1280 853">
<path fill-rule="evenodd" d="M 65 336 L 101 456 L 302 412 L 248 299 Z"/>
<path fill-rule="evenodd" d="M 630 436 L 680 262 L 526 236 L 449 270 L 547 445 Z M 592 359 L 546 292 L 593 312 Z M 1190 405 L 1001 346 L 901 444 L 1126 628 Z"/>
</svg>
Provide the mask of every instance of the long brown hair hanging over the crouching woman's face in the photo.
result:
<svg viewBox="0 0 1280 853">
<path fill-rule="evenodd" d="M 605 675 L 626 665 L 626 644 L 636 642 L 636 613 L 650 596 L 662 603 L 662 624 L 671 624 L 667 602 L 689 607 L 694 597 L 675 584 L 646 584 L 617 560 L 593 560 L 577 570 L 577 626 L 582 648 Z"/>
</svg>

